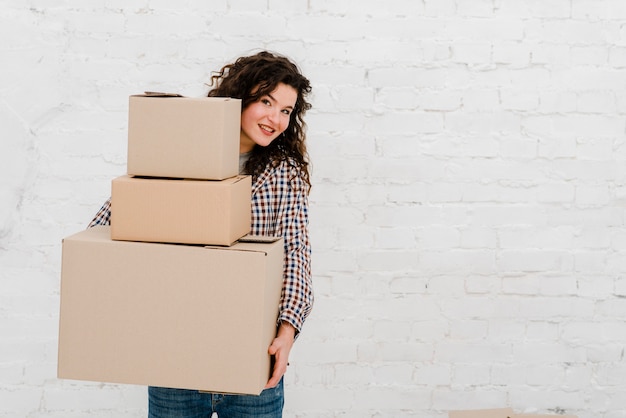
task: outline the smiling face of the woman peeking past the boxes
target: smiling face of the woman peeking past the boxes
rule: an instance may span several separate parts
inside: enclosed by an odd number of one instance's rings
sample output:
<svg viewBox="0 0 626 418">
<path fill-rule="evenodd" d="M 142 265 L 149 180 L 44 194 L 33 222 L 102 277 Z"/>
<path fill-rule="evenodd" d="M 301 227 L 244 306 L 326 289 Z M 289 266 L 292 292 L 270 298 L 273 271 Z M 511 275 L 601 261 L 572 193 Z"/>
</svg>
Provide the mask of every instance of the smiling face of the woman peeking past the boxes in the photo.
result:
<svg viewBox="0 0 626 418">
<path fill-rule="evenodd" d="M 293 87 L 279 83 L 276 89 L 241 112 L 239 152 L 249 152 L 254 145 L 266 147 L 289 126 L 298 92 Z"/>
</svg>

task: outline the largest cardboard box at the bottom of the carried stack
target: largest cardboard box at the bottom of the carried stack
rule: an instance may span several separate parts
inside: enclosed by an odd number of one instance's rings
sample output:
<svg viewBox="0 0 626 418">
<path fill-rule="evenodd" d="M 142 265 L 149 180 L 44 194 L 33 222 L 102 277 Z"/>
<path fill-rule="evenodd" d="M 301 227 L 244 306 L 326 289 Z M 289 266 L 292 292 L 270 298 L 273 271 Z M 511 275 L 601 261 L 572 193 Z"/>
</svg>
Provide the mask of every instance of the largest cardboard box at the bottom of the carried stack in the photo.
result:
<svg viewBox="0 0 626 418">
<path fill-rule="evenodd" d="M 58 377 L 259 394 L 270 375 L 283 242 L 63 240 Z"/>
</svg>

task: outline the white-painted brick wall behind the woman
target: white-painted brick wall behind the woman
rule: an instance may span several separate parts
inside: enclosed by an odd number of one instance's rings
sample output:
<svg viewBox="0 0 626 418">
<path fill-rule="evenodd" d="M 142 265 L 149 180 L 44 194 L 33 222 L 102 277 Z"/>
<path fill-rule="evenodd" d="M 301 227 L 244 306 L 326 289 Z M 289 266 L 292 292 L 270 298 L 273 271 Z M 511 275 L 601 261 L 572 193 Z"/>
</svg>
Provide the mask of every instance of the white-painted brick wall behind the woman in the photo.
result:
<svg viewBox="0 0 626 418">
<path fill-rule="evenodd" d="M 317 302 L 286 416 L 626 417 L 623 0 L 0 0 L 0 418 L 144 417 L 56 379 L 61 238 L 127 97 L 269 48 L 314 85 Z"/>
</svg>

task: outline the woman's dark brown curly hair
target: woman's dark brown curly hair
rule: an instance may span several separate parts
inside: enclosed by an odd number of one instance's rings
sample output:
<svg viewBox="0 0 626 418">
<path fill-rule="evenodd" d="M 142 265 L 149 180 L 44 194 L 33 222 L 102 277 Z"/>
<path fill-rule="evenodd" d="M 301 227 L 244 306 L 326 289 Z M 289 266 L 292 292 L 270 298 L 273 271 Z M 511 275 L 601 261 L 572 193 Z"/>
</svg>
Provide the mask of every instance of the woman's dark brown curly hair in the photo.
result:
<svg viewBox="0 0 626 418">
<path fill-rule="evenodd" d="M 242 111 L 261 97 L 273 92 L 279 83 L 293 87 L 298 98 L 289 118 L 289 126 L 268 146 L 255 145 L 245 166 L 253 177 L 261 174 L 268 164 L 278 165 L 287 160 L 302 171 L 304 180 L 310 185 L 309 156 L 306 150 L 306 123 L 304 114 L 311 108 L 306 97 L 311 92 L 309 80 L 287 57 L 262 51 L 255 55 L 240 57 L 213 72 L 209 97 L 233 97 L 241 99 Z"/>
</svg>

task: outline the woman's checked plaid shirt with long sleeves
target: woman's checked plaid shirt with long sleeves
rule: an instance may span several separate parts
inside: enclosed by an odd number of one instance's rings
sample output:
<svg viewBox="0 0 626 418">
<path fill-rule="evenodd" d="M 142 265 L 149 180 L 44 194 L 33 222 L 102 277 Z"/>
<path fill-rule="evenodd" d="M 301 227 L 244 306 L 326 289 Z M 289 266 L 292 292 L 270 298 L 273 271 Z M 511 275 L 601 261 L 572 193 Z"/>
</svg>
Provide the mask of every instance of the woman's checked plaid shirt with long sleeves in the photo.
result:
<svg viewBox="0 0 626 418">
<path fill-rule="evenodd" d="M 278 322 L 302 329 L 313 307 L 311 246 L 308 234 L 309 186 L 288 161 L 268 166 L 252 184 L 252 229 L 255 235 L 282 237 L 285 267 Z M 100 208 L 89 227 L 110 225 L 111 199 Z"/>
</svg>

